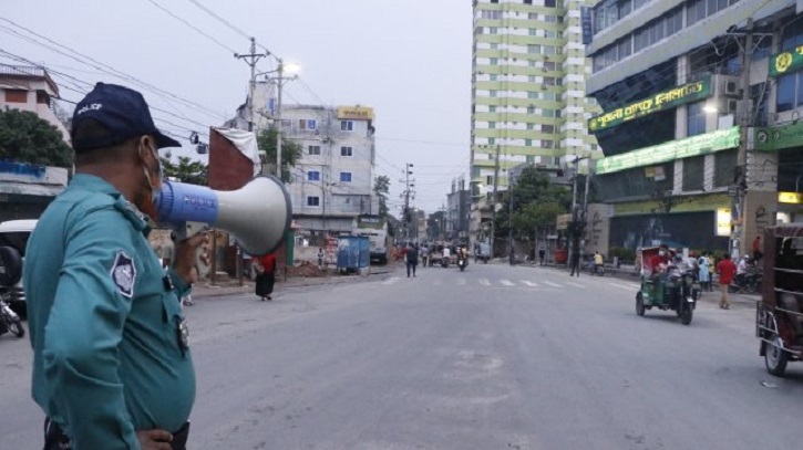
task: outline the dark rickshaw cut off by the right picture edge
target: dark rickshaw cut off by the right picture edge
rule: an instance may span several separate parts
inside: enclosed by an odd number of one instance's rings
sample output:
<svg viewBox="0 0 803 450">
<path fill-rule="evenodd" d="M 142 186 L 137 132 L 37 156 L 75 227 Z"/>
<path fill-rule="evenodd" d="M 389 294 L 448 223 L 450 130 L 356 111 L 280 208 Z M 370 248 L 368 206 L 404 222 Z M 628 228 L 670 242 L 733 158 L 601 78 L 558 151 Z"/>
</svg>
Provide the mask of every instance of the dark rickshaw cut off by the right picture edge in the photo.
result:
<svg viewBox="0 0 803 450">
<path fill-rule="evenodd" d="M 755 307 L 755 336 L 766 371 L 782 377 L 803 360 L 803 223 L 764 231 L 764 281 Z"/>
</svg>

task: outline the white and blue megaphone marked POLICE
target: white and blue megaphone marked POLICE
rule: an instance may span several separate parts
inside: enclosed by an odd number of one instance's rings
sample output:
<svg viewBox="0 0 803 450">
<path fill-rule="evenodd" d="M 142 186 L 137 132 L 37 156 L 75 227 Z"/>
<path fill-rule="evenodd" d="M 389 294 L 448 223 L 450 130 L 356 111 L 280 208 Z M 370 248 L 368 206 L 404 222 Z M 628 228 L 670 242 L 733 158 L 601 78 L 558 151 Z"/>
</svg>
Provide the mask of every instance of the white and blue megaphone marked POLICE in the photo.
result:
<svg viewBox="0 0 803 450">
<path fill-rule="evenodd" d="M 231 191 L 165 180 L 154 201 L 159 223 L 179 231 L 187 222 L 222 228 L 256 257 L 276 251 L 292 220 L 290 195 L 270 175 L 258 176 Z"/>
</svg>

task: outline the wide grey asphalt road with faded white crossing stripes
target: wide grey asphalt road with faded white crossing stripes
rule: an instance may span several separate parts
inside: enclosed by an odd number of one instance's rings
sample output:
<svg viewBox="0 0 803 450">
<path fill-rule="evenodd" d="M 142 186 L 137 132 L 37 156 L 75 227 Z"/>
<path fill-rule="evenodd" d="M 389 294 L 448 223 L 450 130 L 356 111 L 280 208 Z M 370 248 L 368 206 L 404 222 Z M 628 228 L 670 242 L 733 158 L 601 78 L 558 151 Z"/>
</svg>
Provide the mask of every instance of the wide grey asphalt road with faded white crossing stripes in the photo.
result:
<svg viewBox="0 0 803 450">
<path fill-rule="evenodd" d="M 200 300 L 191 448 L 800 447 L 803 364 L 766 374 L 752 305 L 683 326 L 636 289 L 481 264 Z M 41 448 L 29 344 L 0 352 L 0 447 Z"/>
</svg>

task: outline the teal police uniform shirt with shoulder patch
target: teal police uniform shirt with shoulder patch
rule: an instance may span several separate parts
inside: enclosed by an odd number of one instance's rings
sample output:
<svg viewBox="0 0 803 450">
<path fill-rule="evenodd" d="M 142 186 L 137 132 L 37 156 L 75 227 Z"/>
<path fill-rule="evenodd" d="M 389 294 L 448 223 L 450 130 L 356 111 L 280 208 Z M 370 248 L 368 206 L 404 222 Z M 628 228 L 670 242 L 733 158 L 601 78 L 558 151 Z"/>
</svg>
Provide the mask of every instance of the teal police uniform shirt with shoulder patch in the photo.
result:
<svg viewBox="0 0 803 450">
<path fill-rule="evenodd" d="M 111 185 L 76 175 L 25 253 L 33 398 L 74 449 L 138 448 L 135 430 L 178 430 L 195 399 L 179 299 L 143 216 Z"/>
</svg>

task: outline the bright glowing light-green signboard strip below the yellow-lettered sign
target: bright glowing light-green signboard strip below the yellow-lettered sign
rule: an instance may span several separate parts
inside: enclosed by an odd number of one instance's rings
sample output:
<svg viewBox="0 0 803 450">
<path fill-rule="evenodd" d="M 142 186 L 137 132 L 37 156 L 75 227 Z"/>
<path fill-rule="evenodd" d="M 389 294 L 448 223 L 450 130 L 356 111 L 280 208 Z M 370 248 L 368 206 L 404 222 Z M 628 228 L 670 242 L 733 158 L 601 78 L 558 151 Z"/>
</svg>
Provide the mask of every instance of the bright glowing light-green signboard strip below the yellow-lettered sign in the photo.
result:
<svg viewBox="0 0 803 450">
<path fill-rule="evenodd" d="M 651 166 L 708 155 L 739 146 L 739 127 L 720 129 L 704 135 L 687 137 L 670 143 L 640 148 L 622 155 L 609 156 L 597 160 L 597 174 L 611 174 L 634 167 Z"/>
</svg>

